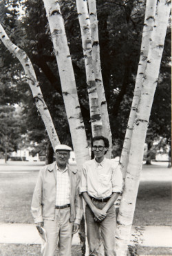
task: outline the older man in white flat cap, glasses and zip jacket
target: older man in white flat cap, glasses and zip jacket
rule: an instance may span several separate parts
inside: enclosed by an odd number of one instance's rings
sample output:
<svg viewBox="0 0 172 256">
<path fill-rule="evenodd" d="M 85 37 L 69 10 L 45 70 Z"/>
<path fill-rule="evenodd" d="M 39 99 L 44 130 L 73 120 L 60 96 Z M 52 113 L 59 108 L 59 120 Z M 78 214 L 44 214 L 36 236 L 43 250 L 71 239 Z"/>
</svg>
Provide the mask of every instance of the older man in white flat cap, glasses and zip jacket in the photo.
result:
<svg viewBox="0 0 172 256">
<path fill-rule="evenodd" d="M 71 255 L 72 234 L 78 231 L 83 216 L 79 176 L 67 164 L 71 150 L 67 145 L 55 147 L 56 161 L 40 170 L 34 189 L 34 223 L 43 227 L 47 235 L 41 250 L 44 256 L 54 256 L 57 245 L 60 255 Z"/>
</svg>

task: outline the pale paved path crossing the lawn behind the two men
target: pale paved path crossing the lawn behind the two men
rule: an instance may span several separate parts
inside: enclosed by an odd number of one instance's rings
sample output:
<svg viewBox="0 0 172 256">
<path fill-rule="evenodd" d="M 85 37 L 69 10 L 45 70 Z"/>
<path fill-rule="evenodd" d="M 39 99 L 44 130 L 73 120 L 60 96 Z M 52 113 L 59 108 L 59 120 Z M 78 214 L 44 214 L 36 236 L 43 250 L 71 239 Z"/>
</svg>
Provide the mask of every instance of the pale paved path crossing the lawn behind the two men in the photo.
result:
<svg viewBox="0 0 172 256">
<path fill-rule="evenodd" d="M 0 230 L 0 244 L 41 244 L 34 224 L 0 223 Z M 80 244 L 78 234 L 74 235 L 72 244 Z M 133 226 L 130 244 L 172 248 L 172 227 Z"/>
</svg>

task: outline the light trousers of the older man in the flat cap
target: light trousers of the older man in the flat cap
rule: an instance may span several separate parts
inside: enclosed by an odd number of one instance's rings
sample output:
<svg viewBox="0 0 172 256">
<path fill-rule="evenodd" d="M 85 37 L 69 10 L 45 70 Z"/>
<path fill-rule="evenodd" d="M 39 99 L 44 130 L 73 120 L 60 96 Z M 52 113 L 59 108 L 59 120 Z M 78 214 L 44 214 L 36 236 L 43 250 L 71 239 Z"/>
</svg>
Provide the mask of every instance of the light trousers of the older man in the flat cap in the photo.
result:
<svg viewBox="0 0 172 256">
<path fill-rule="evenodd" d="M 57 255 L 57 246 L 60 256 L 71 256 L 73 222 L 69 222 L 70 208 L 56 209 L 55 219 L 45 219 L 44 226 L 47 233 L 47 242 L 41 246 L 43 256 Z"/>
</svg>

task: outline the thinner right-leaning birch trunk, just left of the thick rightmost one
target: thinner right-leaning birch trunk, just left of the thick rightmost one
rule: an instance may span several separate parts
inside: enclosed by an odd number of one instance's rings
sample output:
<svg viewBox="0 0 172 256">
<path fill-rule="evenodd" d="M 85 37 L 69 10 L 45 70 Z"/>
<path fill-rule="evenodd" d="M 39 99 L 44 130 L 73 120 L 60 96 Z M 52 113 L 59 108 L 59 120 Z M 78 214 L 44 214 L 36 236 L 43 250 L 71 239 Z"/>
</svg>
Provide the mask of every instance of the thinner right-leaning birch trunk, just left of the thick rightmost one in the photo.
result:
<svg viewBox="0 0 172 256">
<path fill-rule="evenodd" d="M 147 65 L 147 55 L 149 52 L 150 38 L 153 30 L 153 24 L 155 21 L 155 11 L 156 11 L 156 0 L 147 0 L 145 17 L 144 17 L 144 26 L 142 31 L 140 60 L 138 64 L 138 72 L 136 75 L 136 84 L 135 84 L 135 89 L 133 93 L 133 101 L 131 105 L 131 111 L 129 114 L 125 140 L 124 140 L 122 153 L 120 157 L 120 168 L 121 168 L 123 179 L 125 179 L 127 165 L 129 161 L 129 150 L 131 146 L 131 137 L 133 134 L 133 123 L 136 118 L 136 112 L 138 111 L 138 102 L 140 99 L 140 93 L 142 89 L 144 71 Z"/>
</svg>

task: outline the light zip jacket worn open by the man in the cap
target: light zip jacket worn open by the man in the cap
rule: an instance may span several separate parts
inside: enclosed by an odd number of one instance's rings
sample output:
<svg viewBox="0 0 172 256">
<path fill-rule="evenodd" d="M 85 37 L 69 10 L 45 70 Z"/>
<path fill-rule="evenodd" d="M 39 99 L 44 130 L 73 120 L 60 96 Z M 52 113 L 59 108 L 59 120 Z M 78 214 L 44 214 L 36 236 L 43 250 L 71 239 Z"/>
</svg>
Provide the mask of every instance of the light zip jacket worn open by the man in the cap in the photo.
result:
<svg viewBox="0 0 172 256">
<path fill-rule="evenodd" d="M 44 219 L 54 220 L 56 203 L 56 162 L 45 165 L 39 171 L 32 198 L 32 216 L 34 223 Z M 80 223 L 83 217 L 83 201 L 79 195 L 80 175 L 77 170 L 68 165 L 70 181 L 70 221 Z"/>
</svg>

